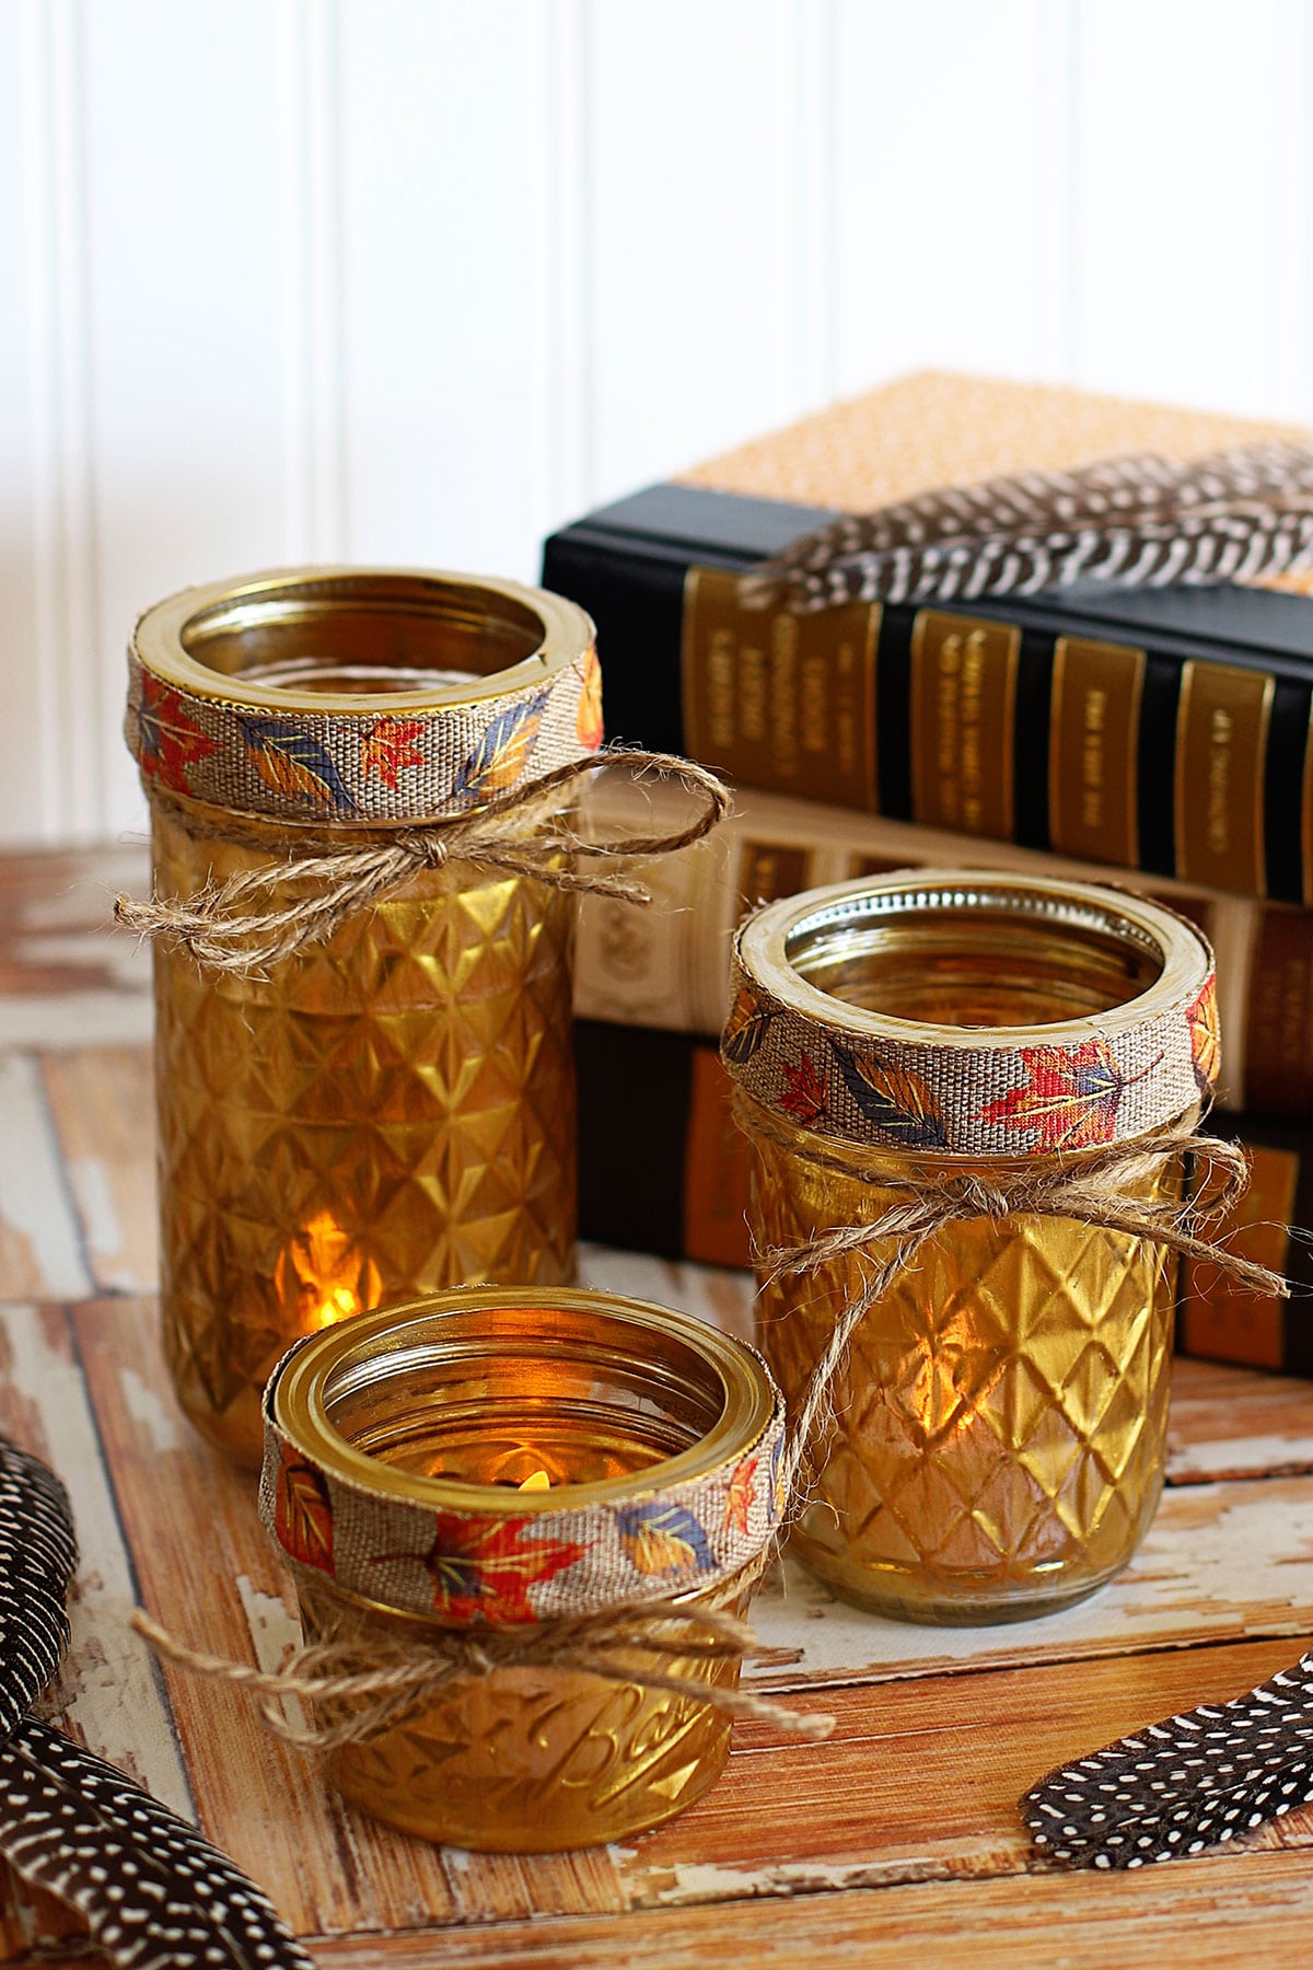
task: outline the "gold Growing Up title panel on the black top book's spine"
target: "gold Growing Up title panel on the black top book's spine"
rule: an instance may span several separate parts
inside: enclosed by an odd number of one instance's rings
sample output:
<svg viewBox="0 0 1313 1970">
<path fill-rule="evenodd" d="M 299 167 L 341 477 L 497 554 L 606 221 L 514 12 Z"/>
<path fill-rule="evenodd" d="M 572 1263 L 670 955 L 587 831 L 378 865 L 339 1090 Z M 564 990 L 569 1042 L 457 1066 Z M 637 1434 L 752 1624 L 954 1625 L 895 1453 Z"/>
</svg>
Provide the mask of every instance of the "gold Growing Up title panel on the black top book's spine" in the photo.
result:
<svg viewBox="0 0 1313 1970">
<path fill-rule="evenodd" d="M 1177 709 L 1177 877 L 1268 894 L 1264 768 L 1276 680 L 1232 664 L 1185 664 Z"/>
</svg>

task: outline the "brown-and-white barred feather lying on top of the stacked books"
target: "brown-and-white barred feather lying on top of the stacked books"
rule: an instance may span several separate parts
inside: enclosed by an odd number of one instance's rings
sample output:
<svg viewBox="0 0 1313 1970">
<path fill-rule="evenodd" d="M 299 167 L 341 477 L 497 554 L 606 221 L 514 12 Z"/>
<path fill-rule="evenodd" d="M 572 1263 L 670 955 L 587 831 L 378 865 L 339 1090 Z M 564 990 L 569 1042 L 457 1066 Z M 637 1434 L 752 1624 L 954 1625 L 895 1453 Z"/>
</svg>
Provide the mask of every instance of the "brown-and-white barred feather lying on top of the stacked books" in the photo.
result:
<svg viewBox="0 0 1313 1970">
<path fill-rule="evenodd" d="M 799 613 L 850 601 L 1035 595 L 1244 581 L 1313 565 L 1313 445 L 1250 445 L 1173 463 L 1104 459 L 947 487 L 844 514 L 744 577 L 748 603 Z"/>
</svg>

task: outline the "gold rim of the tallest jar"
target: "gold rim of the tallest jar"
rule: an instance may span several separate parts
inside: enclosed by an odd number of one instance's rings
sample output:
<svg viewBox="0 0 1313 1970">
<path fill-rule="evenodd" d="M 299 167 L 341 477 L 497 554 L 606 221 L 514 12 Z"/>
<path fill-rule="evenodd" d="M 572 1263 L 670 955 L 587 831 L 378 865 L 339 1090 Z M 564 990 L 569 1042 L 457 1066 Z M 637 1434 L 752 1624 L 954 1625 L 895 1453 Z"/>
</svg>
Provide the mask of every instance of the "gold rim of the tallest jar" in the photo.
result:
<svg viewBox="0 0 1313 1970">
<path fill-rule="evenodd" d="M 407 690 L 321 691 L 295 684 L 260 684 L 244 672 L 222 672 L 195 654 L 205 634 L 240 636 L 256 624 L 313 623 L 331 613 L 390 611 L 398 617 L 441 615 L 459 621 L 461 597 L 470 615 L 488 617 L 490 603 L 518 611 L 526 636 L 537 644 L 504 670 L 449 684 L 427 682 Z M 431 711 L 472 705 L 531 688 L 577 664 L 593 646 L 591 617 L 563 595 L 492 575 L 467 575 L 429 567 L 301 565 L 272 567 L 226 581 L 179 589 L 154 603 L 136 623 L 132 650 L 156 678 L 197 697 L 262 711 L 311 711 L 376 717 L 380 711 Z"/>
</svg>

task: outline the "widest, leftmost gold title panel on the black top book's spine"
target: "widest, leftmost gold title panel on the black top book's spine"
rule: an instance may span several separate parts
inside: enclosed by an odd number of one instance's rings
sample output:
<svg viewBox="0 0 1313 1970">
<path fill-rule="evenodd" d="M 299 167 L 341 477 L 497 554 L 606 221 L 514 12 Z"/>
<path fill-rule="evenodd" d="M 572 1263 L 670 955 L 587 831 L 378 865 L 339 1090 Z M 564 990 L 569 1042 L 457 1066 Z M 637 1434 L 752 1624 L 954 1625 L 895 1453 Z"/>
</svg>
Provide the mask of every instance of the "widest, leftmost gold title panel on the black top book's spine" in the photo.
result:
<svg viewBox="0 0 1313 1970">
<path fill-rule="evenodd" d="M 685 751 L 746 786 L 876 808 L 880 605 L 819 615 L 744 609 L 738 575 L 683 587 Z"/>
</svg>

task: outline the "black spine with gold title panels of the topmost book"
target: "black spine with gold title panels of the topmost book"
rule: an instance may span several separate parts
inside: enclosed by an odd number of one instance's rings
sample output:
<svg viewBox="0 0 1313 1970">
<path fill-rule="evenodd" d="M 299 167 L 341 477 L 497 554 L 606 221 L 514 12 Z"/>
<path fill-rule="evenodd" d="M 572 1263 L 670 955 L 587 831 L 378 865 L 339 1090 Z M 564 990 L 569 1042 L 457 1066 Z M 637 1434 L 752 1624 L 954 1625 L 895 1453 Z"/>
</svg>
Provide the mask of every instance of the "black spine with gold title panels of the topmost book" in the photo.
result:
<svg viewBox="0 0 1313 1970">
<path fill-rule="evenodd" d="M 1307 680 L 1226 644 L 1073 634 L 1043 597 L 750 609 L 746 558 L 691 552 L 587 522 L 547 544 L 545 583 L 598 621 L 618 737 L 744 786 L 1313 904 Z"/>
</svg>

